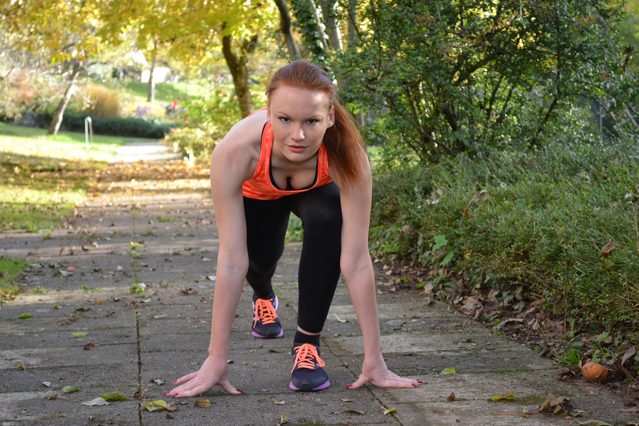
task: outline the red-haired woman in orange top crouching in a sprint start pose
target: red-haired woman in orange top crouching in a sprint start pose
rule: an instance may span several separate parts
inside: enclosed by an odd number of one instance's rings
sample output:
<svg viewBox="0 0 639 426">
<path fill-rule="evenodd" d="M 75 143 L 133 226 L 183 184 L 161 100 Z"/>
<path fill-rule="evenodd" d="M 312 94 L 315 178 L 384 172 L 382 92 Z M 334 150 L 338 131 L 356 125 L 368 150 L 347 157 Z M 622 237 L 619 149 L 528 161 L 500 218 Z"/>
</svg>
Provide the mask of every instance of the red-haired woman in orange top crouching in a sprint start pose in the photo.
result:
<svg viewBox="0 0 639 426">
<path fill-rule="evenodd" d="M 246 279 L 254 290 L 252 334 L 280 338 L 271 278 L 284 250 L 290 212 L 302 219 L 298 327 L 293 338 L 292 390 L 329 386 L 319 353 L 340 271 L 364 338 L 357 381 L 387 388 L 417 387 L 386 367 L 368 249 L 371 170 L 362 138 L 336 99 L 324 70 L 307 61 L 280 68 L 266 89 L 267 107 L 236 123 L 211 160 L 211 187 L 220 239 L 209 355 L 199 371 L 173 382 L 172 397 L 192 397 L 227 380 L 231 323 Z"/>
</svg>

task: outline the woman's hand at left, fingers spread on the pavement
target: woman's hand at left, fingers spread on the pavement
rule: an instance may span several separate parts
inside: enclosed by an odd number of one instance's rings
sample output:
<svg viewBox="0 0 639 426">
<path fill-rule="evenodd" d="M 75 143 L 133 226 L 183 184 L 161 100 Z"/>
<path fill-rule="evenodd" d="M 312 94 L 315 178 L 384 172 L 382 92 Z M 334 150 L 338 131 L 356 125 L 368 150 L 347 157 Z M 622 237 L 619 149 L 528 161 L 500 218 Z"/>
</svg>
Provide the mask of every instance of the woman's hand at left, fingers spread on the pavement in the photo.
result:
<svg viewBox="0 0 639 426">
<path fill-rule="evenodd" d="M 187 374 L 174 381 L 172 384 L 179 384 L 180 386 L 173 388 L 173 390 L 166 391 L 164 394 L 175 398 L 195 397 L 212 389 L 216 384 L 222 386 L 222 388 L 228 393 L 231 393 L 231 395 L 244 393 L 243 390 L 239 390 L 229 383 L 226 379 L 226 373 L 226 359 L 218 361 L 209 356 L 198 371 Z"/>
</svg>

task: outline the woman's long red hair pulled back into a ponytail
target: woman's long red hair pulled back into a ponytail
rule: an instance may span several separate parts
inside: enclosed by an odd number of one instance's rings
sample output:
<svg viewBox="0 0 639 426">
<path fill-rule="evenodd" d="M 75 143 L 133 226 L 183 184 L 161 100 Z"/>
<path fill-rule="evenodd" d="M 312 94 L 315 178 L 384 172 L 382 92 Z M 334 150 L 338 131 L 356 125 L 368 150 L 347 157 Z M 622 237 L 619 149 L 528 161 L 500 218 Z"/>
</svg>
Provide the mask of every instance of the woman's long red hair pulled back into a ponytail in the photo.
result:
<svg viewBox="0 0 639 426">
<path fill-rule="evenodd" d="M 335 108 L 335 123 L 324 134 L 324 146 L 327 150 L 331 168 L 349 184 L 361 184 L 366 175 L 361 169 L 362 154 L 366 153 L 362 135 L 355 120 L 339 102 L 337 87 L 325 70 L 309 61 L 293 61 L 279 68 L 266 86 L 266 99 L 281 85 L 305 90 L 321 91 Z"/>
</svg>

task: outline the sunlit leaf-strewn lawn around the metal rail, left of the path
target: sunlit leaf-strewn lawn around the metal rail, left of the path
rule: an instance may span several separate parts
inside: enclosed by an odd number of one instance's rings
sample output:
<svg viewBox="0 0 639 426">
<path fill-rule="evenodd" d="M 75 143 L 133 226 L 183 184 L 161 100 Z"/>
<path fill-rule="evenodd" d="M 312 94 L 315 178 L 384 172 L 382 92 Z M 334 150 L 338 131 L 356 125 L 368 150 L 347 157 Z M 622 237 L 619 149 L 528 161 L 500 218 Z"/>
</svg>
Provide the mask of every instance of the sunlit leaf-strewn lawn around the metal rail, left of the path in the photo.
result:
<svg viewBox="0 0 639 426">
<path fill-rule="evenodd" d="M 52 230 L 86 197 L 95 170 L 134 138 L 94 136 L 0 123 L 0 230 Z M 142 140 L 142 139 L 139 139 Z"/>
</svg>

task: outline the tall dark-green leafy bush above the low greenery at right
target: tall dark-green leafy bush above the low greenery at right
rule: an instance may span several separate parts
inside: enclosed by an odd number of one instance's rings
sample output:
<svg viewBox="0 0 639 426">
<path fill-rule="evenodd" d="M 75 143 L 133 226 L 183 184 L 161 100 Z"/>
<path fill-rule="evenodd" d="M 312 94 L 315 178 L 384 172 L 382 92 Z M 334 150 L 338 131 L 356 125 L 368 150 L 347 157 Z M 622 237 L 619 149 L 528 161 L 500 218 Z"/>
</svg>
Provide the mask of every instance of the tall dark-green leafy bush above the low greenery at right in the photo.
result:
<svg viewBox="0 0 639 426">
<path fill-rule="evenodd" d="M 345 99 L 422 161 L 483 146 L 535 146 L 587 120 L 626 123 L 636 75 L 624 68 L 616 1 L 373 1 L 339 74 Z M 633 83 L 634 82 L 634 83 Z"/>
</svg>

